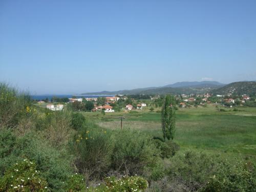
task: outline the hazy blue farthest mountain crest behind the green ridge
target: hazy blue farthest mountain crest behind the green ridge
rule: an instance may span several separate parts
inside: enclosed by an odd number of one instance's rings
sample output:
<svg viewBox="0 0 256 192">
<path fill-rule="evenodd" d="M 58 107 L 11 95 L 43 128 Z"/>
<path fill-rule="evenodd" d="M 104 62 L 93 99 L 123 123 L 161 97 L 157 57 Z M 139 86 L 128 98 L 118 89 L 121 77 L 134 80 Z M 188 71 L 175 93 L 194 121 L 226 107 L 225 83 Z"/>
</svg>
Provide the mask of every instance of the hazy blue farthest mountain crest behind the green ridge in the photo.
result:
<svg viewBox="0 0 256 192">
<path fill-rule="evenodd" d="M 224 86 L 223 83 L 217 81 L 182 81 L 174 84 L 167 84 L 165 88 L 182 88 L 182 87 L 218 87 Z"/>
</svg>

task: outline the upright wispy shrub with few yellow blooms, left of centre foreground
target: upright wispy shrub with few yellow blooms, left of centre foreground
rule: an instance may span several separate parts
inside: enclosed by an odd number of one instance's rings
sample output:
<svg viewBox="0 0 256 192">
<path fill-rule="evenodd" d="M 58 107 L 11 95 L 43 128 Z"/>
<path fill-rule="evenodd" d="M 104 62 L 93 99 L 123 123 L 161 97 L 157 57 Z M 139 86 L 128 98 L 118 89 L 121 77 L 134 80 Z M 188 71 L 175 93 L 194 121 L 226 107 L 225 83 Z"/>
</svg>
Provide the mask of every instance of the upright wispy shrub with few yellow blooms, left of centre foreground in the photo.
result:
<svg viewBox="0 0 256 192">
<path fill-rule="evenodd" d="M 89 178 L 105 176 L 110 168 L 113 151 L 109 132 L 86 127 L 75 135 L 70 146 L 76 157 L 74 163 L 77 172 L 86 174 Z"/>
</svg>

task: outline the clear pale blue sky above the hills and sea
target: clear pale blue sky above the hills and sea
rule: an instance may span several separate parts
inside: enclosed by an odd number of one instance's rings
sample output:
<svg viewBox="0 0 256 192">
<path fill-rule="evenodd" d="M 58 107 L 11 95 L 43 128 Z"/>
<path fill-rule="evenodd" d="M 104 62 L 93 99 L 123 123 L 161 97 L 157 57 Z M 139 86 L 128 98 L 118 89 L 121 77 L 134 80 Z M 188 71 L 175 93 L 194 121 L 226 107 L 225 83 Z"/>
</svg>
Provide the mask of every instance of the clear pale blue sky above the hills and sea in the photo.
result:
<svg viewBox="0 0 256 192">
<path fill-rule="evenodd" d="M 255 0 L 0 1 L 0 81 L 32 94 L 256 80 Z"/>
</svg>

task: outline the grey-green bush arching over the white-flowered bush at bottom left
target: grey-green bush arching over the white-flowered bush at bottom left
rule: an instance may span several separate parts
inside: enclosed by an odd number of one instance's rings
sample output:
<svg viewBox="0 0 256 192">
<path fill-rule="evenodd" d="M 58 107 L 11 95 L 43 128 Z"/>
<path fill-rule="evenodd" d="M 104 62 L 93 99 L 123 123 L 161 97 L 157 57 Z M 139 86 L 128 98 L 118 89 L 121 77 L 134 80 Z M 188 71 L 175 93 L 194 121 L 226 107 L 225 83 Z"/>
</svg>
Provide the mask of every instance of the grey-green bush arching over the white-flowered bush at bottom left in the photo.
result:
<svg viewBox="0 0 256 192">
<path fill-rule="evenodd" d="M 16 137 L 10 130 L 2 130 L 0 148 L 0 177 L 7 172 L 10 165 L 22 161 L 24 157 L 37 164 L 52 191 L 62 191 L 63 182 L 72 172 L 71 156 L 65 154 L 65 151 L 53 148 L 36 133 Z"/>
</svg>

